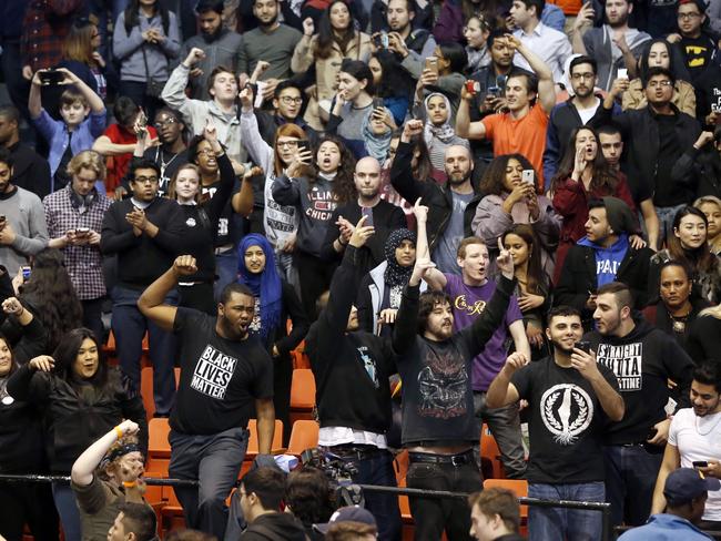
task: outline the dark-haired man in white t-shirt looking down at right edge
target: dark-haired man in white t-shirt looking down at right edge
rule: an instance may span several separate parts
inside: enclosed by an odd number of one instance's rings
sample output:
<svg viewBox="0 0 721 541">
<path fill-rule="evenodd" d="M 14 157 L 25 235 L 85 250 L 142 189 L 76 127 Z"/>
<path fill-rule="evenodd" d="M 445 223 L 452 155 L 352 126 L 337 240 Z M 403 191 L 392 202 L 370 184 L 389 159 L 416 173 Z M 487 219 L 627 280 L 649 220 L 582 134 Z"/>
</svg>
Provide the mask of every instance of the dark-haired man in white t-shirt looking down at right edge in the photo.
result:
<svg viewBox="0 0 721 541">
<path fill-rule="evenodd" d="M 651 514 L 666 508 L 663 486 L 678 468 L 697 468 L 705 477 L 721 478 L 721 365 L 708 363 L 693 370 L 691 408 L 677 411 L 669 429 L 663 462 L 653 490 Z M 701 530 L 721 531 L 721 492 L 709 491 Z"/>
</svg>

